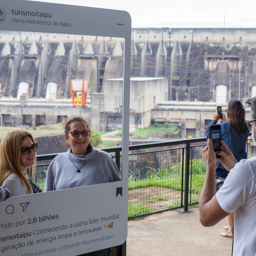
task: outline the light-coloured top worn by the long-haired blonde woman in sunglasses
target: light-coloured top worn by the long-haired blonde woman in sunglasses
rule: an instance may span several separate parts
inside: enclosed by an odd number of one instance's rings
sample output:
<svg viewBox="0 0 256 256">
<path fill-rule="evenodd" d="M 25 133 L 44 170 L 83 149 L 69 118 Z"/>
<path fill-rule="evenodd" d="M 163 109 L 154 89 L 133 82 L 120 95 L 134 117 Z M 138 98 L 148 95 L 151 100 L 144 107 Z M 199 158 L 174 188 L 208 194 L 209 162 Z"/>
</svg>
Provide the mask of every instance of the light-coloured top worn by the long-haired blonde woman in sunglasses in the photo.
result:
<svg viewBox="0 0 256 256">
<path fill-rule="evenodd" d="M 11 196 L 32 194 L 32 189 L 27 191 L 27 188 L 22 184 L 21 179 L 15 173 L 10 174 L 2 183 L 2 187 L 10 191 Z"/>
</svg>

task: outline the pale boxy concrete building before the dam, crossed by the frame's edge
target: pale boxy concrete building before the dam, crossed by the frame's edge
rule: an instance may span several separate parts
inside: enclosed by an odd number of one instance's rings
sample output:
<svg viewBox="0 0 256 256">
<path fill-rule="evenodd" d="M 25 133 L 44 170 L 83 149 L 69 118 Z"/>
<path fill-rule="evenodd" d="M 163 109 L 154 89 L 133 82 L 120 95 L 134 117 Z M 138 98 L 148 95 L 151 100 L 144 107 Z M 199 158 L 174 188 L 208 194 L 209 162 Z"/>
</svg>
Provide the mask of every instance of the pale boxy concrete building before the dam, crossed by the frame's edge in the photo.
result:
<svg viewBox="0 0 256 256">
<path fill-rule="evenodd" d="M 130 80 L 130 128 L 146 128 L 151 122 L 151 109 L 168 99 L 168 80 L 166 78 L 131 78 Z M 109 79 L 104 85 L 104 111 L 107 119 L 105 130 L 122 128 L 123 80 Z M 91 99 L 92 106 L 95 98 Z M 97 105 L 97 104 L 96 104 Z M 96 108 L 95 108 L 96 111 Z M 111 113 L 112 112 L 112 113 Z M 92 120 L 95 116 L 92 114 Z M 112 124 L 110 125 L 110 120 Z M 102 125 L 102 129 L 103 125 Z"/>
</svg>

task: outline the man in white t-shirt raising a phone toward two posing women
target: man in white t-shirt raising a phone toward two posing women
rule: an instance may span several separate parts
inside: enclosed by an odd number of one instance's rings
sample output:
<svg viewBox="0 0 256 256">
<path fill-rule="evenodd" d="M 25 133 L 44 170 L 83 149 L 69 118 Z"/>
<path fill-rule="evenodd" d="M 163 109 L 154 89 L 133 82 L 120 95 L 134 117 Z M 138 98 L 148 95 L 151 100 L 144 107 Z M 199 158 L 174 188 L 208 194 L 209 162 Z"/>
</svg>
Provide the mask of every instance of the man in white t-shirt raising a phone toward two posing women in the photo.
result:
<svg viewBox="0 0 256 256">
<path fill-rule="evenodd" d="M 252 119 L 247 127 L 252 130 L 256 145 L 256 97 L 246 102 L 251 107 Z M 256 253 L 256 157 L 242 159 L 237 163 L 231 150 L 221 143 L 218 161 L 230 171 L 224 185 L 216 192 L 216 155 L 210 139 L 202 150 L 206 163 L 206 176 L 199 200 L 200 222 L 203 226 L 213 226 L 230 213 L 234 217 L 233 256 L 252 256 Z"/>
</svg>

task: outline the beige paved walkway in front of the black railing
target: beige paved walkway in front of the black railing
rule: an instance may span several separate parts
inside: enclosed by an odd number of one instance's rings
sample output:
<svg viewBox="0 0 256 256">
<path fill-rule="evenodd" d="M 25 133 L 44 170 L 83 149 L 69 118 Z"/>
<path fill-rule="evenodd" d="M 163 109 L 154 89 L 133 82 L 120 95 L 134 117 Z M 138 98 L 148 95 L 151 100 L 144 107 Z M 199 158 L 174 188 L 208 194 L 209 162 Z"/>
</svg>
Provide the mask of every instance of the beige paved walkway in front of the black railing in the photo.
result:
<svg viewBox="0 0 256 256">
<path fill-rule="evenodd" d="M 203 227 L 198 208 L 129 220 L 127 256 L 231 256 L 233 239 L 219 235 L 224 225 L 227 218 Z"/>
</svg>

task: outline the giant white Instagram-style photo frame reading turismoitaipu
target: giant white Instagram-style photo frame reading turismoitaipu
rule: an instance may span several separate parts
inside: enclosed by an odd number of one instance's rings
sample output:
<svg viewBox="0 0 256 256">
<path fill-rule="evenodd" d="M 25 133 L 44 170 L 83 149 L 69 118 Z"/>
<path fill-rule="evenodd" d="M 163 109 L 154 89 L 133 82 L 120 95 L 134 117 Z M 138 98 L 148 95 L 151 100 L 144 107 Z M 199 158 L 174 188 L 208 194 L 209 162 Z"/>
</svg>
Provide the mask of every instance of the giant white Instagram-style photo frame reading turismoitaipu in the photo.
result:
<svg viewBox="0 0 256 256">
<path fill-rule="evenodd" d="M 123 244 L 128 220 L 129 14 L 1 0 L 0 30 L 18 31 L 17 36 L 19 31 L 26 31 L 122 38 L 124 42 L 122 181 L 11 197 L 1 202 L 0 255 L 76 256 Z"/>
</svg>

